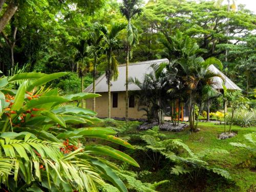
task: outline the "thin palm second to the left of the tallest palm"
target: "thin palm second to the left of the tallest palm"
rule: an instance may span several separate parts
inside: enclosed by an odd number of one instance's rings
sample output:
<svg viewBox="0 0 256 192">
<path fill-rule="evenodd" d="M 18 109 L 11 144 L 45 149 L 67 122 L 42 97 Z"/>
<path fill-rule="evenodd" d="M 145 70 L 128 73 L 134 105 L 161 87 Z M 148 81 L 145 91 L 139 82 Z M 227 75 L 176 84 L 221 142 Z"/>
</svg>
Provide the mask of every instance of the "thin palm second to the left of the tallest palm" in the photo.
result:
<svg viewBox="0 0 256 192">
<path fill-rule="evenodd" d="M 94 58 L 94 62 L 93 62 L 93 93 L 94 94 L 95 94 L 95 76 L 96 76 L 97 59 L 98 59 L 98 56 L 102 52 L 102 50 L 100 48 L 100 43 L 104 36 L 102 31 L 105 31 L 104 26 L 102 26 L 98 23 L 95 23 L 93 32 L 90 33 L 91 38 L 90 38 L 89 52 L 91 53 L 91 55 Z M 93 111 L 95 111 L 95 102 L 96 102 L 96 98 L 94 97 L 93 98 Z"/>
</svg>

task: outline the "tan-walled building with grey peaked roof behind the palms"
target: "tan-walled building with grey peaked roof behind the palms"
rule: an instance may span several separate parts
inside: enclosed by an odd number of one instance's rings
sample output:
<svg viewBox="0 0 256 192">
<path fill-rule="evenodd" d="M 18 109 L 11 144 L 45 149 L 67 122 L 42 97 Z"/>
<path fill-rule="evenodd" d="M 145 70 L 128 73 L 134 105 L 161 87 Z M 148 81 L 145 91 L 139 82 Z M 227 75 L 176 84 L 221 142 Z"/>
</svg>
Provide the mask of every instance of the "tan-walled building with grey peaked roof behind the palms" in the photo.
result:
<svg viewBox="0 0 256 192">
<path fill-rule="evenodd" d="M 136 63 L 130 63 L 129 65 L 129 77 L 138 78 L 143 80 L 144 75 L 150 72 L 150 66 L 153 63 L 160 64 L 162 62 L 169 62 L 168 59 L 157 59 L 150 61 L 142 61 Z M 111 81 L 111 117 L 123 118 L 125 117 L 125 65 L 119 65 L 118 67 L 118 79 L 116 81 Z M 209 70 L 219 73 L 225 79 L 224 84 L 227 89 L 241 90 L 234 82 L 232 82 L 227 76 L 221 73 L 214 65 L 209 66 Z M 220 77 L 215 77 L 215 89 L 223 89 L 223 80 Z M 98 113 L 98 117 L 108 117 L 108 84 L 106 83 L 105 74 L 101 75 L 95 80 L 95 90 L 96 93 L 100 94 L 101 97 L 96 98 L 96 108 L 95 111 Z M 139 90 L 139 88 L 134 85 L 129 85 L 129 91 Z M 84 92 L 93 92 L 93 84 L 90 84 Z M 93 100 L 87 99 L 86 106 L 88 109 L 92 109 Z M 144 111 L 138 111 L 138 105 L 136 98 L 131 96 L 129 98 L 129 118 L 139 119 L 146 118 L 144 116 Z M 186 114 L 186 113 L 185 113 Z M 183 120 L 183 109 L 181 113 L 181 119 Z"/>
</svg>

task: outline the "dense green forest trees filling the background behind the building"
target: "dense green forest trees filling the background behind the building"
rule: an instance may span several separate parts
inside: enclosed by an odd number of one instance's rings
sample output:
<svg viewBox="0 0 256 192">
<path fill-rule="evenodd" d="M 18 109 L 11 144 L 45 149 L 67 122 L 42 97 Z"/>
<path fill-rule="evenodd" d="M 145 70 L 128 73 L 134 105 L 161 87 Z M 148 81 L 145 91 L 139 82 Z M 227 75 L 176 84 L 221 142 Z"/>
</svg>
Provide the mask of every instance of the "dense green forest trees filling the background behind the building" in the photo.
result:
<svg viewBox="0 0 256 192">
<path fill-rule="evenodd" d="M 26 71 L 76 72 L 81 57 L 79 45 L 81 47 L 85 39 L 92 41 L 95 23 L 110 28 L 113 23 L 126 22 L 119 10 L 120 2 L 114 0 L 6 1 L 0 15 L 11 2 L 17 5 L 17 10 L 9 24 L 0 31 L 0 70 L 4 74 L 8 74 L 16 63 L 19 67 L 26 65 Z M 212 1 L 148 1 L 140 16 L 133 18 L 139 44 L 132 48 L 130 60 L 168 57 L 162 51 L 159 38 L 173 35 L 179 29 L 206 50 L 203 58 L 214 56 L 220 59 L 224 73 L 252 97 L 255 87 L 255 35 L 252 33 L 255 14 L 243 5 L 237 5 L 237 9 L 228 12 L 225 4 L 217 7 Z M 124 63 L 126 57 L 124 37 L 125 30 L 120 34 L 120 49 L 114 51 L 119 63 Z M 225 50 L 228 50 L 227 59 Z M 173 53 L 169 59 L 176 56 Z M 108 63 L 105 54 L 97 57 L 96 76 L 105 71 Z M 92 73 L 93 62 L 94 56 L 88 56 L 85 73 Z M 84 86 L 92 82 L 92 77 L 93 74 L 86 75 Z M 80 87 L 76 75 L 62 77 L 54 83 L 67 92 Z"/>
</svg>

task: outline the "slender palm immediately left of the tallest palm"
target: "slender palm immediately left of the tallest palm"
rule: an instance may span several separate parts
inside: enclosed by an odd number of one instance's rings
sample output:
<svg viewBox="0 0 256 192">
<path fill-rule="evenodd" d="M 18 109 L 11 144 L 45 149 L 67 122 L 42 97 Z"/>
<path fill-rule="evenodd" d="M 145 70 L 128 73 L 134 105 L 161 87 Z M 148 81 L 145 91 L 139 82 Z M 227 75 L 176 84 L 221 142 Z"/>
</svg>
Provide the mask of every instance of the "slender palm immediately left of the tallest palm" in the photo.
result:
<svg viewBox="0 0 256 192">
<path fill-rule="evenodd" d="M 118 61 L 116 60 L 113 51 L 121 48 L 118 34 L 124 28 L 125 24 L 113 24 L 110 30 L 105 27 L 101 29 L 104 33 L 104 45 L 102 49 L 108 59 L 108 65 L 105 69 L 106 81 L 108 83 L 108 118 L 111 118 L 111 80 L 116 80 L 118 77 Z"/>
</svg>

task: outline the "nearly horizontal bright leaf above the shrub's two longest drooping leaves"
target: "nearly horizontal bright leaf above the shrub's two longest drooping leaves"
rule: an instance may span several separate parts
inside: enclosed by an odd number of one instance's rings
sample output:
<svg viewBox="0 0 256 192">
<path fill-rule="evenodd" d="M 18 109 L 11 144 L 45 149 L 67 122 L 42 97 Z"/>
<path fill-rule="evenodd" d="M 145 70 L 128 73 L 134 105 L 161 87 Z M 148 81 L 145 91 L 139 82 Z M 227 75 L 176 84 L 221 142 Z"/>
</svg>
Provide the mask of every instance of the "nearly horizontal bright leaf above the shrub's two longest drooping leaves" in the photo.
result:
<svg viewBox="0 0 256 192">
<path fill-rule="evenodd" d="M 91 136 L 91 135 L 104 135 L 104 134 L 116 134 L 117 132 L 110 129 L 110 128 L 103 128 L 103 127 L 86 127 L 76 129 L 74 131 L 67 131 L 64 133 L 60 133 L 57 138 L 58 139 L 65 139 L 70 137 L 77 137 L 77 136 Z"/>
</svg>

